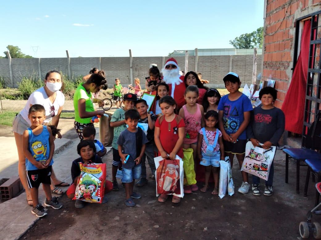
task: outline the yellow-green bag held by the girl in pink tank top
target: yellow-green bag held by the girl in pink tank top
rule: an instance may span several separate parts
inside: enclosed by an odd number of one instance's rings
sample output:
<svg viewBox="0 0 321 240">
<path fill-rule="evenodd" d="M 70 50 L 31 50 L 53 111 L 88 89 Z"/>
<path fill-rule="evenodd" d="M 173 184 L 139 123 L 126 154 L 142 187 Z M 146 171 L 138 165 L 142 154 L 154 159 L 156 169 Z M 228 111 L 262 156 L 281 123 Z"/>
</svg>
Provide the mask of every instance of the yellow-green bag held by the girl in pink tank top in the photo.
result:
<svg viewBox="0 0 321 240">
<path fill-rule="evenodd" d="M 183 148 L 183 168 L 184 168 L 184 185 L 196 184 L 196 174 L 194 170 L 193 149 Z"/>
</svg>

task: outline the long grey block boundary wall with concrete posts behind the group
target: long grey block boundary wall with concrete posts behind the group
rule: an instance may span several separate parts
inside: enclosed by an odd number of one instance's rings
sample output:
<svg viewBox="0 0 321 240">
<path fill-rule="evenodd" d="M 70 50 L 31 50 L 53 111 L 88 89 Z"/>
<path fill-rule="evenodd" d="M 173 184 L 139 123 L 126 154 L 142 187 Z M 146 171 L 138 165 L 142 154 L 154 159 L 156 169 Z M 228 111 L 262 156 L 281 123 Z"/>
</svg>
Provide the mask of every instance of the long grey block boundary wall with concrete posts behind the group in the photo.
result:
<svg viewBox="0 0 321 240">
<path fill-rule="evenodd" d="M 209 80 L 211 86 L 224 87 L 223 77 L 230 71 L 237 72 L 242 81 L 251 84 L 253 55 L 232 55 L 232 66 L 230 67 L 230 55 L 221 56 L 198 56 L 197 72 L 201 72 L 203 79 Z M 156 63 L 162 68 L 162 59 L 168 57 L 133 57 L 133 78 L 138 77 L 144 86 L 145 77 L 151 63 Z M 92 58 L 70 58 L 71 77 L 89 74 L 93 67 L 99 67 L 105 71 L 109 87 L 115 83 L 115 78 L 120 78 L 121 83 L 126 86 L 130 84 L 129 57 L 92 57 Z M 185 56 L 175 57 L 182 71 L 185 70 Z M 14 86 L 23 76 L 39 76 L 38 61 L 40 61 L 41 78 L 43 79 L 49 70 L 62 71 L 68 76 L 67 58 L 32 58 L 12 59 Z M 257 55 L 257 74 L 261 72 L 262 56 Z M 187 71 L 195 71 L 195 56 L 189 56 Z M 10 73 L 8 59 L 0 59 L 0 76 L 5 78 L 6 84 L 10 86 Z"/>
</svg>

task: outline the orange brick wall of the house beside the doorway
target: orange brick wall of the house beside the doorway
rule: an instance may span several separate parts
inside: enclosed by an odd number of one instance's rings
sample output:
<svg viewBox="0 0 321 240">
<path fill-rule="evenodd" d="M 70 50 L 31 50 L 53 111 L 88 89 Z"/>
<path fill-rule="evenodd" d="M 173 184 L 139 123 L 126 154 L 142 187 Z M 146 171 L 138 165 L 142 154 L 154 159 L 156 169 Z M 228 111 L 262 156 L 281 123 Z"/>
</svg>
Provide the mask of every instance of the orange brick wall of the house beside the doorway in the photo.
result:
<svg viewBox="0 0 321 240">
<path fill-rule="evenodd" d="M 321 0 L 265 0 L 263 79 L 277 80 L 276 107 L 281 108 L 291 84 L 297 19 L 317 12 Z M 284 18 L 284 20 L 283 20 Z M 283 20 L 283 21 L 282 21 Z"/>
</svg>

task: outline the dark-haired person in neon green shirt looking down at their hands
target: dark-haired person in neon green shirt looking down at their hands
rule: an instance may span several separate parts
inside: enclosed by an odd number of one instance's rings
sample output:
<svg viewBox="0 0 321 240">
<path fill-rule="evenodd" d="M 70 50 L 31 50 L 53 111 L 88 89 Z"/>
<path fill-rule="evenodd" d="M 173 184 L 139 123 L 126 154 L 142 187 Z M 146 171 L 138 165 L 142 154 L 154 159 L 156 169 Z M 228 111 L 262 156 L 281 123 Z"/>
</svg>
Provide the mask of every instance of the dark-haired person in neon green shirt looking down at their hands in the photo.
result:
<svg viewBox="0 0 321 240">
<path fill-rule="evenodd" d="M 102 100 L 93 97 L 93 93 L 99 92 L 100 89 L 107 89 L 104 71 L 91 74 L 85 83 L 79 84 L 74 93 L 74 128 L 80 141 L 83 140 L 82 129 L 94 125 L 90 121 L 91 117 L 105 113 L 104 110 L 95 111 L 94 108 L 94 103 L 98 103 L 99 107 L 104 106 Z"/>
</svg>

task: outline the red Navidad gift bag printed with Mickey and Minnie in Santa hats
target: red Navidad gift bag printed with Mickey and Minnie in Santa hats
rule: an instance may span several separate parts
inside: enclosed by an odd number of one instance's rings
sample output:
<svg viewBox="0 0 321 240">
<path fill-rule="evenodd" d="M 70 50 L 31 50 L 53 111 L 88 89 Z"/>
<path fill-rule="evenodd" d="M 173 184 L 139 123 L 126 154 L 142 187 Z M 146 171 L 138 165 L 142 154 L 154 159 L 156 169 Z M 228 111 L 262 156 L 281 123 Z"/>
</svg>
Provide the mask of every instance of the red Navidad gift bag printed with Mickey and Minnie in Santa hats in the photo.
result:
<svg viewBox="0 0 321 240">
<path fill-rule="evenodd" d="M 105 192 L 106 164 L 82 164 L 73 200 L 101 203 Z"/>
</svg>

